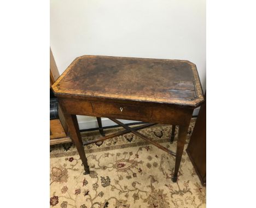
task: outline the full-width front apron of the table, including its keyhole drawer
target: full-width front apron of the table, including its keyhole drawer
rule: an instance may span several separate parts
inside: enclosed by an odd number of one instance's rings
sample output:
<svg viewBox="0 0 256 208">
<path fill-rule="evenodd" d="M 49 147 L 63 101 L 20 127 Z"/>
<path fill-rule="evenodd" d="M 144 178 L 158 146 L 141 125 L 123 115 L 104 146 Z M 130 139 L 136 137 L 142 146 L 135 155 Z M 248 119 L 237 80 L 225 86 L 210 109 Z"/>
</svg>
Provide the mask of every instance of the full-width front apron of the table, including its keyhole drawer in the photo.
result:
<svg viewBox="0 0 256 208">
<path fill-rule="evenodd" d="M 61 99 L 63 112 L 73 115 L 88 115 L 149 123 L 188 125 L 193 109 L 173 109 L 170 107 L 152 107 L 144 105 L 126 105 L 123 103 L 93 102 L 88 100 Z"/>
</svg>

